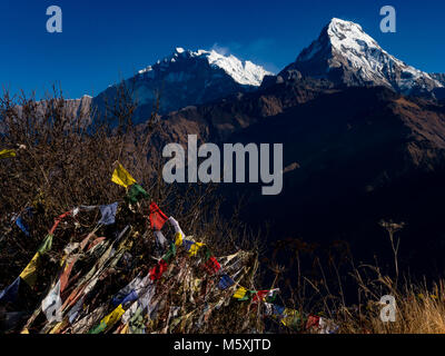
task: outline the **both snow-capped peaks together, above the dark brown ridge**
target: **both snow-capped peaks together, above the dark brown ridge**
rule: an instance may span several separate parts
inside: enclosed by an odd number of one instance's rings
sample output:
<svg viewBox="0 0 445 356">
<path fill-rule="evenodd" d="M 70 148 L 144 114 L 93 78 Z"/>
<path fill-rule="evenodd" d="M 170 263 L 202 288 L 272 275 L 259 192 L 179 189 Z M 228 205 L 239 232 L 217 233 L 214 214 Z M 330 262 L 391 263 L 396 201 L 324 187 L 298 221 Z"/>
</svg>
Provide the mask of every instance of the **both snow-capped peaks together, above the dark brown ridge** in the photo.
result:
<svg viewBox="0 0 445 356">
<path fill-rule="evenodd" d="M 301 77 L 326 79 L 337 87 L 384 86 L 408 96 L 445 97 L 445 75 L 408 66 L 382 49 L 359 24 L 336 18 L 277 76 L 231 55 L 177 48 L 123 82 L 138 105 L 136 121 L 144 122 L 152 111 L 157 93 L 159 113 L 166 115 Z M 103 108 L 107 100 L 118 96 L 119 85 L 100 92 L 93 105 Z"/>
</svg>

